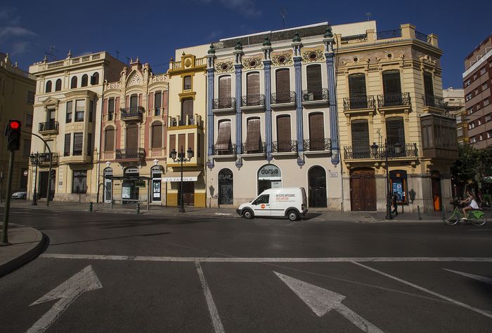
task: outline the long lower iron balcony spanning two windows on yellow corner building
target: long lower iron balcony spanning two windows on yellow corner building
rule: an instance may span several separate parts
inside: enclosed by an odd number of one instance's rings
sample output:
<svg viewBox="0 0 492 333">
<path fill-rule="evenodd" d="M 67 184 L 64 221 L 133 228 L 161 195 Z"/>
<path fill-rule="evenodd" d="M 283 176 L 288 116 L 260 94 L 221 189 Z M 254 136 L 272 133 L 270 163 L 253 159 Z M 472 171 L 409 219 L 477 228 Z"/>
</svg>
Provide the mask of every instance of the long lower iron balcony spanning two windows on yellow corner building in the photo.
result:
<svg viewBox="0 0 492 333">
<path fill-rule="evenodd" d="M 373 160 L 384 160 L 388 154 L 388 158 L 417 158 L 418 150 L 416 143 L 405 144 L 401 147 L 401 151 L 397 154 L 393 144 L 388 145 L 388 150 L 386 151 L 386 146 L 381 144 L 377 147 L 377 154 L 373 155 L 370 149 L 370 145 L 367 146 L 348 146 L 344 147 L 344 159 L 346 160 L 357 160 L 357 159 L 373 159 Z"/>
</svg>

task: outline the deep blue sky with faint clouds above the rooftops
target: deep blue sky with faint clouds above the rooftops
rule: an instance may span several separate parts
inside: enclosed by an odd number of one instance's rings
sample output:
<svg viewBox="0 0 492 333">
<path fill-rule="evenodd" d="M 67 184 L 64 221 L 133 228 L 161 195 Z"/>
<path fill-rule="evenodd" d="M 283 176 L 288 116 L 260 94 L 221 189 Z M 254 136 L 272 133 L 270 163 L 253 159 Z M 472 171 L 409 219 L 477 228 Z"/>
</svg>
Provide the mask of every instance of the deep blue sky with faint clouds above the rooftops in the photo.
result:
<svg viewBox="0 0 492 333">
<path fill-rule="evenodd" d="M 45 53 L 64 59 L 108 51 L 119 60 L 148 62 L 166 72 L 176 48 L 221 38 L 318 22 L 332 25 L 376 20 L 377 30 L 411 23 L 437 34 L 443 87 L 462 87 L 465 57 L 492 33 L 492 1 L 25 1 L 0 2 L 0 52 L 27 70 Z M 51 52 L 51 46 L 54 50 Z"/>
</svg>

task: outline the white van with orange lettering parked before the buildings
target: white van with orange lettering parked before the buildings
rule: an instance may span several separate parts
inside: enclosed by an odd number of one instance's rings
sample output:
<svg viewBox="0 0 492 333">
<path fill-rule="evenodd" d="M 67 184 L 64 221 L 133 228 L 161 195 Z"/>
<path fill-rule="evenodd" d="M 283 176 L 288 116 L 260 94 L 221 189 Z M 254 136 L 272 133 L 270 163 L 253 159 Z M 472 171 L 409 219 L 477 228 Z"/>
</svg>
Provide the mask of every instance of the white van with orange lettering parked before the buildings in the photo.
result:
<svg viewBox="0 0 492 333">
<path fill-rule="evenodd" d="M 237 210 L 245 219 L 259 217 L 288 217 L 295 221 L 307 213 L 304 187 L 267 189 L 250 203 L 243 203 Z"/>
</svg>

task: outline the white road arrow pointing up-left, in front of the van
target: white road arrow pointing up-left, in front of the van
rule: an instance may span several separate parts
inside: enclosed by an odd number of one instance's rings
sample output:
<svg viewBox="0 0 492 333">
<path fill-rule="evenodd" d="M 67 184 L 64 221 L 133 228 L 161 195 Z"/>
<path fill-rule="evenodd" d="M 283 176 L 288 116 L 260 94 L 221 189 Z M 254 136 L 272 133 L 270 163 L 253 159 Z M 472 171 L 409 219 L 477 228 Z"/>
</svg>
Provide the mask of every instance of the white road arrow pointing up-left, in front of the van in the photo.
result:
<svg viewBox="0 0 492 333">
<path fill-rule="evenodd" d="M 323 317 L 328 311 L 335 310 L 350 320 L 350 322 L 360 328 L 363 332 L 383 332 L 382 329 L 368 322 L 368 320 L 365 320 L 354 311 L 351 311 L 347 306 L 344 306 L 342 304 L 342 301 L 345 299 L 344 295 L 337 294 L 331 290 L 326 290 L 317 285 L 311 285 L 311 283 L 306 283 L 302 280 L 297 280 L 296 278 L 291 278 L 290 276 L 285 276 L 275 271 L 273 273 L 276 273 L 276 276 L 278 276 L 287 287 L 290 287 L 294 294 L 297 294 L 297 296 L 299 296 L 299 298 L 302 299 L 302 301 L 304 301 L 318 317 Z"/>
</svg>

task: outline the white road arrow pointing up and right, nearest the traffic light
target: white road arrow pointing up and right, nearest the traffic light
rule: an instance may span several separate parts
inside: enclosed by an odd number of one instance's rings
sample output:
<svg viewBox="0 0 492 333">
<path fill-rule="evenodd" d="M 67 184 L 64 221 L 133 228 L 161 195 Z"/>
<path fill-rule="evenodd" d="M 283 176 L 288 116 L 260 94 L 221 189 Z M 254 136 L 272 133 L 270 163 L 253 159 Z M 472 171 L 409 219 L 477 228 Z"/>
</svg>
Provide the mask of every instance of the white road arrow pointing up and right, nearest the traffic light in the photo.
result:
<svg viewBox="0 0 492 333">
<path fill-rule="evenodd" d="M 55 320 L 60 317 L 60 315 L 65 311 L 70 304 L 72 304 L 77 297 L 82 295 L 84 292 L 89 292 L 91 290 L 101 289 L 103 285 L 99 282 L 96 273 L 94 273 L 92 266 L 89 265 L 79 273 L 69 278 L 64 283 L 56 287 L 55 289 L 48 292 L 43 297 L 34 301 L 30 306 L 44 303 L 46 301 L 54 301 L 60 299 L 56 302 L 48 312 L 46 312 L 41 319 L 32 325 L 27 333 L 34 332 L 44 332 L 46 329 L 55 322 Z"/>
</svg>

